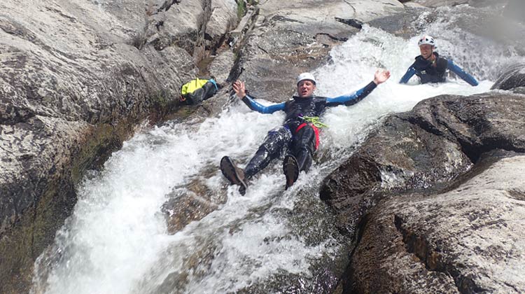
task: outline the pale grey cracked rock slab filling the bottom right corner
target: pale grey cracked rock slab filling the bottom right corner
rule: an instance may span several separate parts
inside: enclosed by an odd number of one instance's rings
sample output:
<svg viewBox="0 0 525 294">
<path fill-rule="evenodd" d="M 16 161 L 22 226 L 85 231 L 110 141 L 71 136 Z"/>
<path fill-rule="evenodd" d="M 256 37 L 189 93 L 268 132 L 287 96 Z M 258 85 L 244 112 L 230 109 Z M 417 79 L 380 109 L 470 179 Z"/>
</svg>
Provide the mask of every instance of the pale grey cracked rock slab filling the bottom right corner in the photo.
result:
<svg viewBox="0 0 525 294">
<path fill-rule="evenodd" d="M 381 202 L 354 252 L 357 293 L 522 293 L 524 162 L 500 151 L 453 190 Z"/>
</svg>

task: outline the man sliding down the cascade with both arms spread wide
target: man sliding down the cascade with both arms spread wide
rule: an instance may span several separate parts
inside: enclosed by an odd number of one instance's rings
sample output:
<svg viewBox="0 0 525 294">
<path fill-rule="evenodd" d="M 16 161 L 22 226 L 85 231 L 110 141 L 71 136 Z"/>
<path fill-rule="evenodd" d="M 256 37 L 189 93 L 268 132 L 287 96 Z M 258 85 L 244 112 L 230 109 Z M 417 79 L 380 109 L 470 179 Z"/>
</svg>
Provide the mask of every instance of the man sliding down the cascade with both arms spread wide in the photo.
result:
<svg viewBox="0 0 525 294">
<path fill-rule="evenodd" d="M 228 156 L 221 159 L 221 171 L 233 185 L 239 185 L 239 193 L 246 193 L 246 181 L 278 158 L 281 153 L 288 153 L 283 161 L 283 172 L 286 176 L 286 188 L 292 186 L 301 171 L 308 172 L 312 156 L 319 146 L 318 127 L 324 125 L 318 121 L 318 116 L 327 107 L 337 105 L 352 105 L 365 98 L 377 85 L 384 83 L 390 77 L 389 71 L 376 71 L 374 80 L 362 89 L 335 98 L 318 97 L 314 95 L 316 79 L 311 73 L 301 73 L 297 76 L 297 96 L 288 102 L 263 106 L 255 101 L 255 97 L 246 94 L 244 83 L 237 80 L 233 90 L 251 110 L 260 113 L 284 111 L 286 118 L 283 125 L 270 130 L 265 141 L 258 148 L 245 169 L 240 169 Z"/>
</svg>

